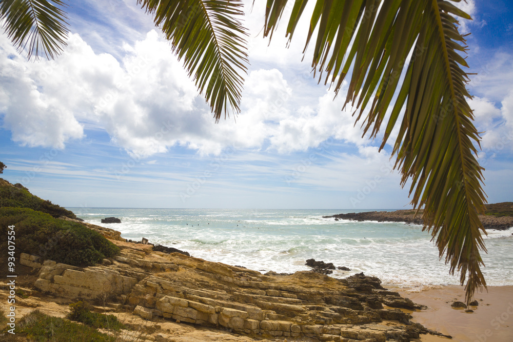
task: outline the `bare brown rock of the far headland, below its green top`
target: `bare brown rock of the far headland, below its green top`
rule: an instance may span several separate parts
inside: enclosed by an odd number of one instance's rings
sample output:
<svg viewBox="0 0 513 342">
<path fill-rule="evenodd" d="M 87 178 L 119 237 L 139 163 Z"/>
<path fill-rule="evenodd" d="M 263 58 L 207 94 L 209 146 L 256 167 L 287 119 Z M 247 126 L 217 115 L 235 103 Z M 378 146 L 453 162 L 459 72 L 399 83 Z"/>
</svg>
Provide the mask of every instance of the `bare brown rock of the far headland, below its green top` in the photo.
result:
<svg viewBox="0 0 513 342">
<path fill-rule="evenodd" d="M 323 218 L 350 219 L 354 221 L 404 222 L 422 225 L 422 210 L 367 211 L 362 213 L 336 214 Z M 513 216 L 479 215 L 485 229 L 507 230 L 513 227 Z"/>
</svg>

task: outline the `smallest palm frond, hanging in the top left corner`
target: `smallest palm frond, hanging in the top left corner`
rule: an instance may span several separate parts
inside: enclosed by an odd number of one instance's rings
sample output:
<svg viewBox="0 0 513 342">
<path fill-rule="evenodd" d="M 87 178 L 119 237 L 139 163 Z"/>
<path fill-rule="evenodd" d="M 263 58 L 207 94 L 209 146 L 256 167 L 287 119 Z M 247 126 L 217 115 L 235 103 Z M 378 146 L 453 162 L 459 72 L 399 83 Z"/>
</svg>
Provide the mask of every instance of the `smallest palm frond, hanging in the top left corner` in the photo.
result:
<svg viewBox="0 0 513 342">
<path fill-rule="evenodd" d="M 54 58 L 63 51 L 68 36 L 65 3 L 60 0 L 2 0 L 0 22 L 20 52 L 27 58 L 45 54 Z"/>
</svg>

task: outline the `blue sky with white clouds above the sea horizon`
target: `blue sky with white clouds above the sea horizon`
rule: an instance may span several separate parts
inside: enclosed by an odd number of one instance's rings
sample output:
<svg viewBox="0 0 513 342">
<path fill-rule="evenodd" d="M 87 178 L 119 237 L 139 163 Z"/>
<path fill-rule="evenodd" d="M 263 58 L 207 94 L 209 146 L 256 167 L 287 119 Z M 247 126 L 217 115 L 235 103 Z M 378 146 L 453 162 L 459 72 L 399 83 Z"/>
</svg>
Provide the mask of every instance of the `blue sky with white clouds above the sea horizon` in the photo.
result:
<svg viewBox="0 0 513 342">
<path fill-rule="evenodd" d="M 410 208 L 391 146 L 362 138 L 345 96 L 302 61 L 307 21 L 288 48 L 285 23 L 269 44 L 265 2 L 252 3 L 241 113 L 218 124 L 135 0 L 70 2 L 54 61 L 27 61 L 0 33 L 2 177 L 65 207 Z M 458 6 L 473 18 L 460 31 L 484 190 L 513 201 L 513 4 Z"/>
</svg>

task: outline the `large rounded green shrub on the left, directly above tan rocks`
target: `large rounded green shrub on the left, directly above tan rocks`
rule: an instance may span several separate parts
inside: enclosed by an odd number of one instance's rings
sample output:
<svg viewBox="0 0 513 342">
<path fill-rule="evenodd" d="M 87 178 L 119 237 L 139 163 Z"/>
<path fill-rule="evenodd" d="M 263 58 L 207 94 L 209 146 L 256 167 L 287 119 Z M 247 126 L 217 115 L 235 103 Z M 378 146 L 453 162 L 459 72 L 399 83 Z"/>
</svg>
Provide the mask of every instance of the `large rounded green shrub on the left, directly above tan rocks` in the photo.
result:
<svg viewBox="0 0 513 342">
<path fill-rule="evenodd" d="M 15 226 L 16 255 L 40 255 L 57 263 L 91 266 L 120 248 L 80 223 L 28 208 L 0 208 L 0 249 L 7 250 L 8 226 Z"/>
</svg>

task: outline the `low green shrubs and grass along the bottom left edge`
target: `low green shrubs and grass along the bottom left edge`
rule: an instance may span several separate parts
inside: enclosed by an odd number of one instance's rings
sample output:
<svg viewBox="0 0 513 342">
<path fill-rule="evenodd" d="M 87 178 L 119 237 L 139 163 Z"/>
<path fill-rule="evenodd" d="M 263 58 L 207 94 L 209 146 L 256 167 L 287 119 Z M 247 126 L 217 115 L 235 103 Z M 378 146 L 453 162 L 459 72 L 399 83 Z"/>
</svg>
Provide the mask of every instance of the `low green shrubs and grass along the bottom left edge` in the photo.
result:
<svg viewBox="0 0 513 342">
<path fill-rule="evenodd" d="M 48 316 L 39 310 L 34 310 L 20 319 L 15 331 L 16 337 L 37 342 L 115 341 L 115 337 L 102 334 L 94 328 L 73 323 L 67 319 Z"/>
</svg>

